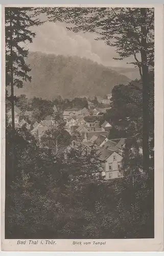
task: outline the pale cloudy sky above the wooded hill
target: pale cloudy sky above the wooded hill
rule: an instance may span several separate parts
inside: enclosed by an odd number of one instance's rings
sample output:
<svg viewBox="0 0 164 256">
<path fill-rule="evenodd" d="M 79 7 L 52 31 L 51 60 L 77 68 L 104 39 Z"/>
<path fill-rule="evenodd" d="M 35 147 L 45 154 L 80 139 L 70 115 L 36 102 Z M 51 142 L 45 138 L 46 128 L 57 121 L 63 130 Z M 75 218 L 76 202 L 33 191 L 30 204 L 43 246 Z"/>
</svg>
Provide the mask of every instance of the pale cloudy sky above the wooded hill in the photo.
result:
<svg viewBox="0 0 164 256">
<path fill-rule="evenodd" d="M 46 22 L 33 31 L 36 37 L 29 45 L 30 51 L 86 57 L 109 67 L 130 67 L 127 62 L 134 60 L 133 57 L 113 60 L 113 57 L 118 57 L 113 47 L 106 46 L 104 41 L 96 41 L 93 33 L 68 31 L 63 23 Z"/>
</svg>

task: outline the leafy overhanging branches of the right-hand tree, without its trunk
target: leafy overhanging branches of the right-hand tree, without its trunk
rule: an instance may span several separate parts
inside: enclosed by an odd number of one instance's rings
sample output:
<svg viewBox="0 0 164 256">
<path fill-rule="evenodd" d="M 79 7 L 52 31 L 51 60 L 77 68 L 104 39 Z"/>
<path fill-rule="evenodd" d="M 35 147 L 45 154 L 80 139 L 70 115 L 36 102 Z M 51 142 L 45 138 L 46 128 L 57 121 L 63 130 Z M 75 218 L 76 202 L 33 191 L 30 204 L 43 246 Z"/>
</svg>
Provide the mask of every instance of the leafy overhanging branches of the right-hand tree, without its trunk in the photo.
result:
<svg viewBox="0 0 164 256">
<path fill-rule="evenodd" d="M 97 33 L 97 40 L 116 48 L 123 59 L 134 55 L 134 65 L 141 67 L 137 54 L 142 49 L 143 16 L 142 8 L 41 8 L 51 22 L 66 22 L 68 30 Z M 147 13 L 147 55 L 148 65 L 154 66 L 154 9 L 146 8 Z M 71 27 L 70 25 L 73 24 Z M 110 24 L 110 26 L 109 26 Z"/>
</svg>

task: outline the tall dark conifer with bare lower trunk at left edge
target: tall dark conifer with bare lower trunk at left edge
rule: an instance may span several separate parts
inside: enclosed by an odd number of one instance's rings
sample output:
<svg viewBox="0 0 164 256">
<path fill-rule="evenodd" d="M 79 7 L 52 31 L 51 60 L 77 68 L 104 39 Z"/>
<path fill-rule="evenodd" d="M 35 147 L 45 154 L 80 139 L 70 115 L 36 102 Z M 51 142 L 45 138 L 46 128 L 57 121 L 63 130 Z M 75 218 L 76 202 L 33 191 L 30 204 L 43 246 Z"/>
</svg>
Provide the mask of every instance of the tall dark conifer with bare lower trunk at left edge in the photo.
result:
<svg viewBox="0 0 164 256">
<path fill-rule="evenodd" d="M 5 8 L 5 47 L 6 47 L 6 87 L 10 86 L 11 95 L 7 99 L 11 102 L 12 115 L 12 169 L 14 169 L 14 86 L 21 88 L 23 81 L 31 81 L 30 67 L 26 62 L 29 50 L 25 49 L 27 42 L 32 42 L 35 33 L 32 26 L 42 23 L 34 8 Z"/>
</svg>

